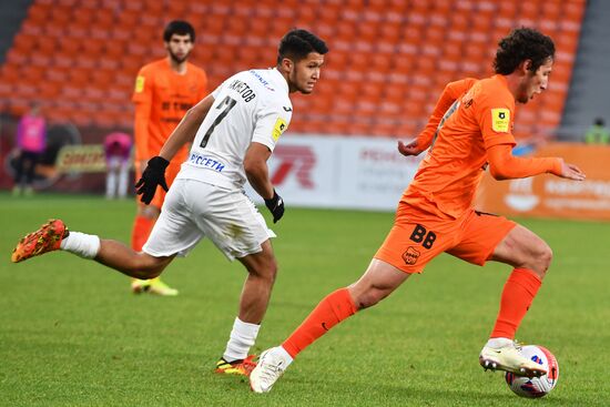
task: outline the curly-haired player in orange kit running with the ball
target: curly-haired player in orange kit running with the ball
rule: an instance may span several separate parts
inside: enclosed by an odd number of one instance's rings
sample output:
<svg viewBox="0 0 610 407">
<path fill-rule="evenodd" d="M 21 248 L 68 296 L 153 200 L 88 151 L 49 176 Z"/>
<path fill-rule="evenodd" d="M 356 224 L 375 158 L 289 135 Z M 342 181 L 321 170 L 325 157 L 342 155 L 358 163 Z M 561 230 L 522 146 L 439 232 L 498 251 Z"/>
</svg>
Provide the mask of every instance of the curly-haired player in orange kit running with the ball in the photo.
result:
<svg viewBox="0 0 610 407">
<path fill-rule="evenodd" d="M 400 199 L 386 241 L 357 282 L 326 296 L 281 346 L 263 352 L 250 376 L 254 391 L 270 391 L 303 349 L 343 319 L 387 297 L 443 252 L 477 265 L 495 261 L 514 267 L 496 324 L 480 352 L 480 365 L 519 376 L 546 373 L 520 354 L 514 338 L 552 252 L 526 227 L 475 211 L 472 201 L 486 169 L 497 180 L 543 173 L 584 179 L 577 166 L 562 159 L 511 154 L 515 102 L 527 103 L 547 89 L 553 55 L 549 37 L 517 29 L 499 42 L 494 77 L 446 87 L 421 134 L 409 144 L 398 143 L 404 155 L 429 150 Z"/>
</svg>

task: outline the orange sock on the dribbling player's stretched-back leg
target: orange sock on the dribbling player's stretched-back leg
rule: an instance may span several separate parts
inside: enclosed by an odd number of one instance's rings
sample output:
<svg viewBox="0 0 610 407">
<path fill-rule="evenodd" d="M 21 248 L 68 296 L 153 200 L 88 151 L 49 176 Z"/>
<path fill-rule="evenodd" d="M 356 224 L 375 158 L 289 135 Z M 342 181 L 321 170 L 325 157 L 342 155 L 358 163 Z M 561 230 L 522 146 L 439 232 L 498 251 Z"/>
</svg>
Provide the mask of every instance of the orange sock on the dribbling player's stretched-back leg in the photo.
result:
<svg viewBox="0 0 610 407">
<path fill-rule="evenodd" d="M 293 358 L 333 326 L 358 311 L 347 288 L 328 294 L 303 324 L 282 344 Z"/>
</svg>

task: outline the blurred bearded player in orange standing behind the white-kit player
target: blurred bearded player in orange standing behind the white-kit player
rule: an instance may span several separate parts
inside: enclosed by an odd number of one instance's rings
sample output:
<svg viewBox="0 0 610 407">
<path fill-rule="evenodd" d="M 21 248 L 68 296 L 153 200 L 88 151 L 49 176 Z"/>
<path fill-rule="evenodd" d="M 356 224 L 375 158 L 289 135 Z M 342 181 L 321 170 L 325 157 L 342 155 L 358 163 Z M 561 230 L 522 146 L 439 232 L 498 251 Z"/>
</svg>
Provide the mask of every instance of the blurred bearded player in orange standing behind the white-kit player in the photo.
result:
<svg viewBox="0 0 610 407">
<path fill-rule="evenodd" d="M 195 43 L 195 30 L 186 21 L 172 21 L 165 27 L 163 41 L 167 57 L 144 65 L 138 73 L 132 101 L 135 104 L 135 174 L 142 176 L 146 162 L 163 146 L 186 111 L 207 93 L 205 72 L 187 62 Z M 184 145 L 167 166 L 166 182 L 171 185 L 180 164 L 189 152 Z M 141 251 L 149 238 L 165 200 L 165 191 L 159 191 L 150 205 L 138 203 L 133 223 L 131 246 Z M 160 278 L 132 279 L 133 293 L 148 292 L 159 295 L 177 295 Z"/>
</svg>

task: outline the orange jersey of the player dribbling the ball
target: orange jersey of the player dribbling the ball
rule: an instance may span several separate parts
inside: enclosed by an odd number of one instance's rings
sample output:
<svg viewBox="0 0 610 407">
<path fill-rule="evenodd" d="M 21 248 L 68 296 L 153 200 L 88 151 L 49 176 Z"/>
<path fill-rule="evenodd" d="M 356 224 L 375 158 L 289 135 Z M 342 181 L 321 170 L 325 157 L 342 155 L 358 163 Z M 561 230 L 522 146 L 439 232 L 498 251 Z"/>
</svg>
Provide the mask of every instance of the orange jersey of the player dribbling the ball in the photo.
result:
<svg viewBox="0 0 610 407">
<path fill-rule="evenodd" d="M 458 218 L 472 206 L 487 166 L 487 150 L 516 144 L 515 98 L 499 74 L 455 82 L 451 91 L 459 96 L 439 121 L 433 146 L 401 201 L 441 217 Z"/>
</svg>

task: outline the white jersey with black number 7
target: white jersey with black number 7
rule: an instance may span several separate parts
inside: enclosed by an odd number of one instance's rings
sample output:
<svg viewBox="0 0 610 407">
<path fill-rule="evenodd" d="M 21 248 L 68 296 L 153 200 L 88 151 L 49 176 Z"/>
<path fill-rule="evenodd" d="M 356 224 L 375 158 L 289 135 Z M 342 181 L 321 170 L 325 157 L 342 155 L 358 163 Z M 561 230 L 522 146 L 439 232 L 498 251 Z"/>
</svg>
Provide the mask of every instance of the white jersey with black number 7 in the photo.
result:
<svg viewBox="0 0 610 407">
<path fill-rule="evenodd" d="M 212 95 L 214 103 L 176 179 L 242 189 L 250 144 L 257 142 L 273 151 L 291 123 L 288 84 L 275 68 L 250 70 L 224 81 Z"/>
</svg>

